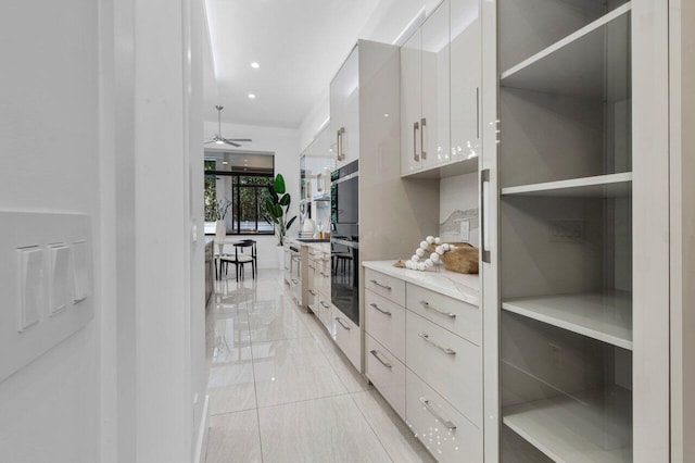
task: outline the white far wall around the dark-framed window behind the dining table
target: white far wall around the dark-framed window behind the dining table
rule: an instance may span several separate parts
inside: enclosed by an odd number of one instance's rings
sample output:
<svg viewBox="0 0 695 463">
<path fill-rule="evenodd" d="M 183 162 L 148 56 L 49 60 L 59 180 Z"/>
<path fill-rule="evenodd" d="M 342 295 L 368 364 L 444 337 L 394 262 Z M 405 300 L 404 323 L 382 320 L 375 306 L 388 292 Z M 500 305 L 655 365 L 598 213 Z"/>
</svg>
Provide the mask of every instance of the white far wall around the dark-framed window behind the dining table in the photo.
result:
<svg viewBox="0 0 695 463">
<path fill-rule="evenodd" d="M 216 132 L 217 122 L 205 123 L 205 140 L 211 139 Z M 239 148 L 243 152 L 275 153 L 275 173 L 282 174 L 287 190 L 292 197 L 290 216 L 296 215 L 299 213 L 300 198 L 299 130 L 223 123 L 222 134 L 226 138 L 251 138 L 252 142 L 243 143 L 243 147 Z M 207 145 L 206 147 L 207 149 L 214 149 L 215 145 Z M 202 163 L 200 168 L 202 172 Z M 295 222 L 292 225 L 288 236 L 296 235 L 299 230 L 298 224 L 299 222 Z M 273 236 L 257 236 L 254 239 L 257 241 L 258 247 L 258 267 L 277 268 L 278 261 L 275 249 L 277 239 Z"/>
</svg>

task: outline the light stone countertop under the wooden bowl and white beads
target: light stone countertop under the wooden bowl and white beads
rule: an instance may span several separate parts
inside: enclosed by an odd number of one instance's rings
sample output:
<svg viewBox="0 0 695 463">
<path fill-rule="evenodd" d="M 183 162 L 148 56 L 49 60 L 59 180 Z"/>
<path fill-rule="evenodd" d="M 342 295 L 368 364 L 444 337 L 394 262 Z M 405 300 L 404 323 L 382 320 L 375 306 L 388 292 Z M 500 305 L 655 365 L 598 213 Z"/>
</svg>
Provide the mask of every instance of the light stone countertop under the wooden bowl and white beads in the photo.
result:
<svg viewBox="0 0 695 463">
<path fill-rule="evenodd" d="M 478 275 L 464 275 L 446 271 L 444 267 L 441 267 L 440 272 L 396 268 L 393 266 L 395 261 L 367 261 L 363 262 L 362 265 L 450 298 L 472 305 L 480 305 L 480 279 Z"/>
</svg>

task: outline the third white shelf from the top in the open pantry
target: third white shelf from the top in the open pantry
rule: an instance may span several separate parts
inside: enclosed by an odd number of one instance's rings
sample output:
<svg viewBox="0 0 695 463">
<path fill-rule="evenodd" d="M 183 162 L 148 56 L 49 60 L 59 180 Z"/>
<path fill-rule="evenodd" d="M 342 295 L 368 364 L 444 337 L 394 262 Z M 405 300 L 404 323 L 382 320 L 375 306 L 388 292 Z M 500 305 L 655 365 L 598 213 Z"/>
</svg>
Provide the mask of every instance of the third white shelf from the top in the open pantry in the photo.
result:
<svg viewBox="0 0 695 463">
<path fill-rule="evenodd" d="M 629 292 L 507 299 L 502 302 L 502 309 L 632 350 L 632 298 Z"/>
</svg>

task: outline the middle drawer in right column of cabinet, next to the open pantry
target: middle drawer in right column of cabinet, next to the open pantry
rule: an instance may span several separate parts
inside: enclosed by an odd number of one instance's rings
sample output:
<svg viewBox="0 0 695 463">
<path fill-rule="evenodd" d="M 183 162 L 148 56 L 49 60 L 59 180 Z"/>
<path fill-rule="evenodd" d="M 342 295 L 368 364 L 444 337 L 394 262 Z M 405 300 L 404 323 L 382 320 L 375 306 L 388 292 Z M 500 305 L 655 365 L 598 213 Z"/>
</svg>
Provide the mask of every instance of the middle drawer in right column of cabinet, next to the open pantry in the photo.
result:
<svg viewBox="0 0 695 463">
<path fill-rule="evenodd" d="M 482 422 L 481 349 L 410 311 L 405 363 L 472 423 Z"/>
</svg>

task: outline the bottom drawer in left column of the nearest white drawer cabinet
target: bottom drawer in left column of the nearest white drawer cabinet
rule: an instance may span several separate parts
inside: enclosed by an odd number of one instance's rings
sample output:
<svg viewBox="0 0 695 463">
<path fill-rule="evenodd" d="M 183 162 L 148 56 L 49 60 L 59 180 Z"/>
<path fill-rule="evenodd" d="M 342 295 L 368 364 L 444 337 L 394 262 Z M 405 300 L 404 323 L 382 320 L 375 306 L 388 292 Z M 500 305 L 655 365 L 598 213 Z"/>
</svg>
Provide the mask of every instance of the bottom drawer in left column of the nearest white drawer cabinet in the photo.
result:
<svg viewBox="0 0 695 463">
<path fill-rule="evenodd" d="M 365 375 L 405 420 L 405 365 L 369 335 L 365 335 Z"/>
</svg>

